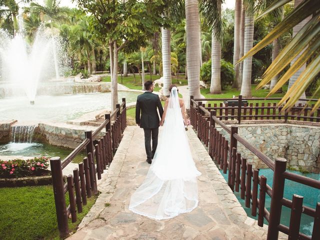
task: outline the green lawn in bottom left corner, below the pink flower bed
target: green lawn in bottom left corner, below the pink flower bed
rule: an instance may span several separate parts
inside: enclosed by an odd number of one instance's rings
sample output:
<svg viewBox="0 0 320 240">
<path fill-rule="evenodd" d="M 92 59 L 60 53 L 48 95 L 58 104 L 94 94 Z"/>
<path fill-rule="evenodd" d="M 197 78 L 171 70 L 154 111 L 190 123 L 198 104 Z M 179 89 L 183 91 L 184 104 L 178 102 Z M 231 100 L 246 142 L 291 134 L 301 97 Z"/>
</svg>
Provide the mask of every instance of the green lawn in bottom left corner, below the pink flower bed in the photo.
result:
<svg viewBox="0 0 320 240">
<path fill-rule="evenodd" d="M 76 222 L 69 219 L 70 231 L 75 231 L 95 199 L 87 199 Z M 59 239 L 52 186 L 0 188 L 0 226 L 1 240 Z"/>
</svg>

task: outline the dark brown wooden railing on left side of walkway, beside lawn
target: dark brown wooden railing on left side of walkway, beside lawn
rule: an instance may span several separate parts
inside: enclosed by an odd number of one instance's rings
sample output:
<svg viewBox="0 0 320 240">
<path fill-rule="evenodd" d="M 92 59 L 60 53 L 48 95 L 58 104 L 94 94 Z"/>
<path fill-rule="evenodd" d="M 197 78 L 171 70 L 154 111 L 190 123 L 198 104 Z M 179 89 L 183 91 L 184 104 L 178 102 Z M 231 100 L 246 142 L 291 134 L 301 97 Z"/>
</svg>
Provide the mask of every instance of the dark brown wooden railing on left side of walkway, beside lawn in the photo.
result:
<svg viewBox="0 0 320 240">
<path fill-rule="evenodd" d="M 76 213 L 82 212 L 82 205 L 86 205 L 87 198 L 97 194 L 96 178 L 101 179 L 101 173 L 112 162 L 113 153 L 121 141 L 125 127 L 125 98 L 122 98 L 122 103 L 116 104 L 116 109 L 111 114 L 105 114 L 105 120 L 99 127 L 93 132 L 85 131 L 85 139 L 67 157 L 62 161 L 60 157 L 50 158 L 55 210 L 61 237 L 69 233 L 68 216 L 71 215 L 72 222 L 75 222 Z M 103 128 L 105 133 L 101 136 Z M 84 148 L 87 156 L 83 158 L 83 162 L 78 163 L 73 175 L 69 174 L 64 182 L 62 169 Z M 68 206 L 65 203 L 67 192 Z"/>
</svg>

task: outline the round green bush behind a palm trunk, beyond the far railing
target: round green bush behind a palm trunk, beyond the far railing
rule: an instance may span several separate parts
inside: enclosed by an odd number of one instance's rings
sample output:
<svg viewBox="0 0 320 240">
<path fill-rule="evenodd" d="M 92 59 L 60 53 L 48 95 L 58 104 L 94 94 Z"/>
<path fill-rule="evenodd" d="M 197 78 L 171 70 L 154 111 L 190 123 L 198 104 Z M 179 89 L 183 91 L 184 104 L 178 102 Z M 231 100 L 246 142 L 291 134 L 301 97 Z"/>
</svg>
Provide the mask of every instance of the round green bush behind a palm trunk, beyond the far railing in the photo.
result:
<svg viewBox="0 0 320 240">
<path fill-rule="evenodd" d="M 228 86 L 232 85 L 234 79 L 234 70 L 232 63 L 221 59 L 221 89 L 226 90 Z M 204 62 L 200 68 L 200 79 L 209 84 L 211 81 L 211 59 Z"/>
</svg>

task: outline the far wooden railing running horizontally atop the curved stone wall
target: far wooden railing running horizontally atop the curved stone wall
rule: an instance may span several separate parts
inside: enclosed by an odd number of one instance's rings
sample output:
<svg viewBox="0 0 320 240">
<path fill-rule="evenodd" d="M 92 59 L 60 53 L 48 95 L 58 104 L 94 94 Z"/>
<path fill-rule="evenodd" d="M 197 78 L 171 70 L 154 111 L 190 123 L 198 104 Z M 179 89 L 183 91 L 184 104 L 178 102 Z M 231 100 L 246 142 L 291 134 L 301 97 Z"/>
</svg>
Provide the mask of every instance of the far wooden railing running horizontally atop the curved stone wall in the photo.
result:
<svg viewBox="0 0 320 240">
<path fill-rule="evenodd" d="M 243 98 L 241 95 L 237 98 L 192 98 L 194 101 L 213 101 L 205 106 L 207 110 L 215 110 L 216 116 L 219 120 L 237 120 L 238 123 L 241 120 L 283 120 L 287 122 L 292 121 L 308 121 L 308 122 L 320 122 L 320 108 L 310 114 L 314 104 L 293 106 L 289 111 L 282 110 L 283 106 L 276 106 L 276 102 L 280 100 L 279 97 L 265 98 L 263 97 L 250 97 Z M 223 103 L 226 101 L 226 103 Z M 227 101 L 233 101 L 228 104 Z M 261 101 L 253 102 L 250 101 Z M 263 102 L 266 101 L 266 102 Z M 317 99 L 301 98 L 300 102 L 307 103 L 316 102 Z M 202 104 L 204 106 L 204 104 Z"/>
</svg>

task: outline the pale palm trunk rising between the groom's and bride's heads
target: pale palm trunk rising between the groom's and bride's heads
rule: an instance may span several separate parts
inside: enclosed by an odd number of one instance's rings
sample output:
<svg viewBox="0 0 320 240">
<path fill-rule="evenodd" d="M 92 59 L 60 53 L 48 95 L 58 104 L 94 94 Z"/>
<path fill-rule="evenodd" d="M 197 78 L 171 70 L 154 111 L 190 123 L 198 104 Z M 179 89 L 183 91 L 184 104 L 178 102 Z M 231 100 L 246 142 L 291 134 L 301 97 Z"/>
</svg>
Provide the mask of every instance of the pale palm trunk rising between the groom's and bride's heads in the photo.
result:
<svg viewBox="0 0 320 240">
<path fill-rule="evenodd" d="M 163 95 L 169 95 L 171 85 L 171 48 L 170 48 L 170 29 L 161 28 L 162 39 L 162 72 L 163 72 Z"/>
</svg>

